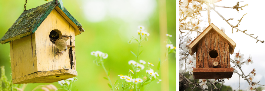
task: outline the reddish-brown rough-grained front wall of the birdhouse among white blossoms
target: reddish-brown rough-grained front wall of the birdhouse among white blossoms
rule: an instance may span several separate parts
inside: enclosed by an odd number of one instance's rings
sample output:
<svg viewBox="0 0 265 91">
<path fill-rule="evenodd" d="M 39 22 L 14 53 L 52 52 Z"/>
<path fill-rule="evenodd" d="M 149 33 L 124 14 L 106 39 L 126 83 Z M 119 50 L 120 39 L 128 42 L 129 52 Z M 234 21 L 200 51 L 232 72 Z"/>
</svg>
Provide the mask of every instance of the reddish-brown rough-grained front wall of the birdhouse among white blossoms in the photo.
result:
<svg viewBox="0 0 265 91">
<path fill-rule="evenodd" d="M 215 61 L 218 62 L 215 68 L 230 67 L 228 46 L 228 43 L 223 41 L 223 38 L 214 30 L 209 31 L 208 34 L 198 42 L 196 68 L 214 68 L 213 62 Z M 217 57 L 210 57 L 210 51 L 216 51 L 218 53 Z"/>
</svg>

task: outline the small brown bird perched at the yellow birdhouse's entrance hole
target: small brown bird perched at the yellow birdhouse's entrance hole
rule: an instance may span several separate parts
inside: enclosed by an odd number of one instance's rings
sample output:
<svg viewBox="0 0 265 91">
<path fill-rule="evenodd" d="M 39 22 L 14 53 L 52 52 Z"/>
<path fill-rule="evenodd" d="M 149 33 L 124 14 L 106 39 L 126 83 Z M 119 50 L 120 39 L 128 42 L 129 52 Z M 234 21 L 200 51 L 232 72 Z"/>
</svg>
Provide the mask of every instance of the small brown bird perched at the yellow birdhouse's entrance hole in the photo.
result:
<svg viewBox="0 0 265 91">
<path fill-rule="evenodd" d="M 61 35 L 55 41 L 56 48 L 58 49 L 58 51 L 56 52 L 56 55 L 63 54 L 63 52 L 65 52 L 68 47 L 75 47 L 75 46 L 67 45 L 67 42 L 66 41 L 68 39 L 72 39 L 72 36 Z M 59 50 L 61 51 L 60 53 L 59 53 Z"/>
</svg>

